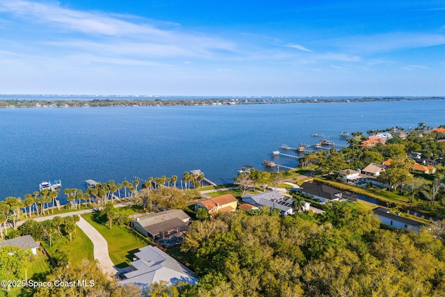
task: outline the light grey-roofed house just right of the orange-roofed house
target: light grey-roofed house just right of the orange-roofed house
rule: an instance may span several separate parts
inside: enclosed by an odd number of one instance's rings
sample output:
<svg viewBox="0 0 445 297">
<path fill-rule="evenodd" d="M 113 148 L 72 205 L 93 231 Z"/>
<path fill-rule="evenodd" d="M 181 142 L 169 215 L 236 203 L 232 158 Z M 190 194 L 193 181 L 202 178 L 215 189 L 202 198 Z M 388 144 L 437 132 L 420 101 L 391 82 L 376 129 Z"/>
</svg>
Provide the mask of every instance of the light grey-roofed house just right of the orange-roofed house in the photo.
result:
<svg viewBox="0 0 445 297">
<path fill-rule="evenodd" d="M 280 209 L 280 214 L 282 216 L 293 214 L 293 199 L 286 198 L 278 191 L 264 192 L 256 195 L 248 193 L 241 196 L 241 199 L 243 202 L 257 207 L 267 205 L 271 209 Z"/>
</svg>

